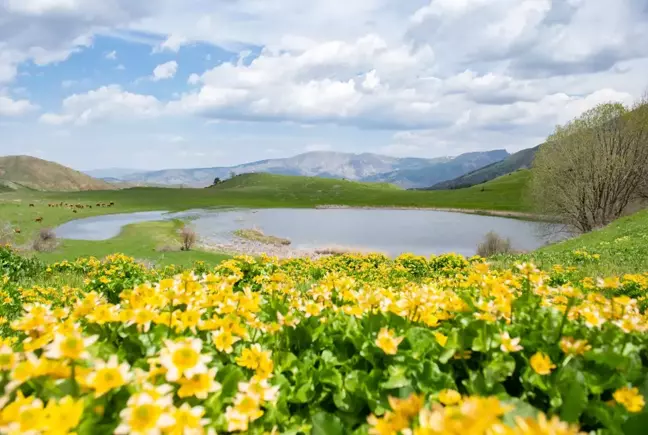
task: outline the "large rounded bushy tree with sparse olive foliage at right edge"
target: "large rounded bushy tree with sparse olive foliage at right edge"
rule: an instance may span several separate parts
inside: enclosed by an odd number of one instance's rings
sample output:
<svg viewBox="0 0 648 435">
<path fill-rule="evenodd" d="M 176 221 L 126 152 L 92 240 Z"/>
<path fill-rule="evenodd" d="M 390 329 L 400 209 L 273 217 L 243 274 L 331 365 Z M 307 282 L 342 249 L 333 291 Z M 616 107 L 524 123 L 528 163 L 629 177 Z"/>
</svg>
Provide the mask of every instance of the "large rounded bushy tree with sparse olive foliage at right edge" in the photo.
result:
<svg viewBox="0 0 648 435">
<path fill-rule="evenodd" d="M 557 127 L 534 161 L 542 214 L 592 231 L 620 217 L 648 177 L 648 95 L 632 108 L 605 103 Z"/>
</svg>

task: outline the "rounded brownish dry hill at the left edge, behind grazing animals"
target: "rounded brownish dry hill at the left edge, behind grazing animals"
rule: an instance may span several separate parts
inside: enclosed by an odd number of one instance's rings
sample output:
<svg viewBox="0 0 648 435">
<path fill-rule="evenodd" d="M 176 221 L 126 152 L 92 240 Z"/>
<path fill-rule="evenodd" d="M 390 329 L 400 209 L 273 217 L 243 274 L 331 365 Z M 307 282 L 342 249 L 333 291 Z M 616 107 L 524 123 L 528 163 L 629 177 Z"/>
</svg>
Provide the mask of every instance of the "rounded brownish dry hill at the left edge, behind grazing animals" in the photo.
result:
<svg viewBox="0 0 648 435">
<path fill-rule="evenodd" d="M 58 163 L 30 156 L 0 157 L 0 184 L 33 190 L 111 190 L 110 183 Z"/>
</svg>

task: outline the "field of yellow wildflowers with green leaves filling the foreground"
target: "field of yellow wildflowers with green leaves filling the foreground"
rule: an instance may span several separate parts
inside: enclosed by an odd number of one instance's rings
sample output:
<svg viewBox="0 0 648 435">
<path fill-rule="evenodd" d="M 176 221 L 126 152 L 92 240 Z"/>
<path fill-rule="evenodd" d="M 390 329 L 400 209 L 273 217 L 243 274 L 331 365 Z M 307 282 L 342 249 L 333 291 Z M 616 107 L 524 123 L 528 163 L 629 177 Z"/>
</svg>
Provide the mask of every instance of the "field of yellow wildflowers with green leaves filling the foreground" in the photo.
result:
<svg viewBox="0 0 648 435">
<path fill-rule="evenodd" d="M 0 248 L 0 432 L 642 434 L 647 289 L 456 255 L 183 271 Z"/>
</svg>

